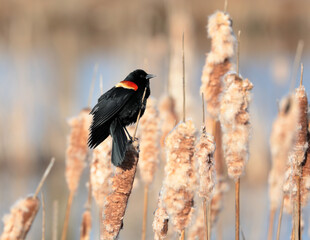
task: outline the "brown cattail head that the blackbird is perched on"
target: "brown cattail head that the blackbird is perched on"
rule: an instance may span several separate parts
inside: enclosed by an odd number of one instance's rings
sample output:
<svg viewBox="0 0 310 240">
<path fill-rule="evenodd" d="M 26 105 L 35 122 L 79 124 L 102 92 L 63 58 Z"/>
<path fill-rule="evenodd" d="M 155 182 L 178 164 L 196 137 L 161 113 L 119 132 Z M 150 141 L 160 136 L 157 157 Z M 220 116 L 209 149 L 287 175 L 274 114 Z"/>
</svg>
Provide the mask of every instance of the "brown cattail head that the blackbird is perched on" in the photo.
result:
<svg viewBox="0 0 310 240">
<path fill-rule="evenodd" d="M 123 218 L 139 159 L 137 148 L 138 146 L 128 145 L 123 164 L 115 169 L 115 175 L 112 179 L 112 192 L 105 202 L 104 239 L 115 239 L 123 226 Z"/>
</svg>

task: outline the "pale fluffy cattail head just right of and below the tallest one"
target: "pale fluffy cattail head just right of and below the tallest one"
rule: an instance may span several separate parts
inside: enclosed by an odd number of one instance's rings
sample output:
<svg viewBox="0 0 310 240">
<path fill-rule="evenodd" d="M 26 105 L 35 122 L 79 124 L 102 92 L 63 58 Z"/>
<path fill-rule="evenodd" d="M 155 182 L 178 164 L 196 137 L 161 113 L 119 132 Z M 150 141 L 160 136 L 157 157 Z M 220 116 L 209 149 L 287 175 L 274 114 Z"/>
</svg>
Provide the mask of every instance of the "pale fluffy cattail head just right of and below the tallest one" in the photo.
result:
<svg viewBox="0 0 310 240">
<path fill-rule="evenodd" d="M 248 160 L 250 138 L 250 90 L 253 84 L 237 74 L 225 77 L 225 91 L 221 100 L 220 121 L 223 129 L 224 155 L 228 175 L 237 180 Z"/>
</svg>

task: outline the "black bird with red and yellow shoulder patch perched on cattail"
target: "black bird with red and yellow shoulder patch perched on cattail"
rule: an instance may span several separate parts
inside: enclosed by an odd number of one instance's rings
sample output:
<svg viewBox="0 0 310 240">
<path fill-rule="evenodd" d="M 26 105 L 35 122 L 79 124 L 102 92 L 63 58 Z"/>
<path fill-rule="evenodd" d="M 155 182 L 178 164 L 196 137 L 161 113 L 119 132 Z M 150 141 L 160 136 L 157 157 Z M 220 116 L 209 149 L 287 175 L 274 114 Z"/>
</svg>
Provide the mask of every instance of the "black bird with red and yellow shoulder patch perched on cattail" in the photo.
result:
<svg viewBox="0 0 310 240">
<path fill-rule="evenodd" d="M 112 163 L 115 166 L 120 166 L 124 160 L 128 142 L 126 126 L 136 122 L 140 109 L 141 116 L 143 115 L 147 98 L 151 93 L 149 80 L 153 77 L 155 76 L 141 69 L 133 71 L 124 81 L 101 95 L 90 112 L 93 115 L 93 122 L 88 145 L 95 148 L 111 135 Z M 142 103 L 145 88 L 146 93 Z M 130 136 L 129 138 L 131 139 Z"/>
</svg>

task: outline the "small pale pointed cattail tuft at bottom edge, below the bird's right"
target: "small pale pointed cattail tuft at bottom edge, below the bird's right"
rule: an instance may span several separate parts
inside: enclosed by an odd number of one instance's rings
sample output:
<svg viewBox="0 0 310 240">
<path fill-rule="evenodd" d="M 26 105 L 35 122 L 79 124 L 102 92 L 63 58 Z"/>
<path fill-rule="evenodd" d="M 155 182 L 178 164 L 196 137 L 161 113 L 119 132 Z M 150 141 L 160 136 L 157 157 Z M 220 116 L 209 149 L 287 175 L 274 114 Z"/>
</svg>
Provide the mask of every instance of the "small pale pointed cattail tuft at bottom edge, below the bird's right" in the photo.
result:
<svg viewBox="0 0 310 240">
<path fill-rule="evenodd" d="M 155 234 L 154 240 L 162 240 L 166 238 L 168 232 L 168 222 L 169 216 L 163 204 L 162 194 L 160 193 L 153 220 L 153 231 Z"/>
</svg>

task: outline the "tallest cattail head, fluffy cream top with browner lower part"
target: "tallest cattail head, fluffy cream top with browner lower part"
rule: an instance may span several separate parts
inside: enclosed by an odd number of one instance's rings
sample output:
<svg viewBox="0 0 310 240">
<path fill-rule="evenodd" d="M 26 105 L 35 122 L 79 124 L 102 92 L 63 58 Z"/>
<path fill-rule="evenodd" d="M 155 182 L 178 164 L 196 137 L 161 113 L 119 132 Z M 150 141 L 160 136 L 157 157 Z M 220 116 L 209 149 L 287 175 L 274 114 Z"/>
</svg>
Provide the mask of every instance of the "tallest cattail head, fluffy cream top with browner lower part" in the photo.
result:
<svg viewBox="0 0 310 240">
<path fill-rule="evenodd" d="M 221 78 L 231 70 L 230 58 L 234 55 L 236 40 L 228 13 L 218 11 L 211 15 L 207 29 L 211 38 L 211 52 L 207 54 L 203 68 L 200 91 L 204 93 L 207 112 L 217 119 L 223 91 Z"/>
</svg>

